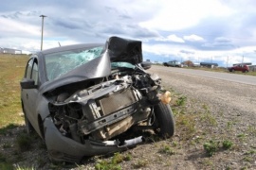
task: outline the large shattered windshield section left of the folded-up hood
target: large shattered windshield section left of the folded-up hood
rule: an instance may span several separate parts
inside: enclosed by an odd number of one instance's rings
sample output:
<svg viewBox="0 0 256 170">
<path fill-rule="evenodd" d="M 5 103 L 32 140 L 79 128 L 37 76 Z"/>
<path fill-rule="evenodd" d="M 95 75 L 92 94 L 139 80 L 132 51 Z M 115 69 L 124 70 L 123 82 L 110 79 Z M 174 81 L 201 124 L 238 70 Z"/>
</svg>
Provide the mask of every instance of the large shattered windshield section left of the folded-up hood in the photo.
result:
<svg viewBox="0 0 256 170">
<path fill-rule="evenodd" d="M 46 76 L 48 80 L 62 76 L 88 61 L 100 57 L 102 49 L 103 46 L 99 46 L 90 49 L 75 49 L 46 55 Z"/>
</svg>

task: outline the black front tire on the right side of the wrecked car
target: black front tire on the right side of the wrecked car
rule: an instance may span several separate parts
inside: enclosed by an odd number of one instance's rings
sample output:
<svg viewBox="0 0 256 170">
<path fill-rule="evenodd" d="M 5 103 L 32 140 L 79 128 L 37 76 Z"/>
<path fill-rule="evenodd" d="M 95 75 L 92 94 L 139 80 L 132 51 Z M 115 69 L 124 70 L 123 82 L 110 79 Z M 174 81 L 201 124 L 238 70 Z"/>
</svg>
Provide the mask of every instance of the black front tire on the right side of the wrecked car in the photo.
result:
<svg viewBox="0 0 256 170">
<path fill-rule="evenodd" d="M 174 136 L 174 115 L 170 105 L 159 103 L 154 107 L 155 132 L 164 138 Z"/>
</svg>

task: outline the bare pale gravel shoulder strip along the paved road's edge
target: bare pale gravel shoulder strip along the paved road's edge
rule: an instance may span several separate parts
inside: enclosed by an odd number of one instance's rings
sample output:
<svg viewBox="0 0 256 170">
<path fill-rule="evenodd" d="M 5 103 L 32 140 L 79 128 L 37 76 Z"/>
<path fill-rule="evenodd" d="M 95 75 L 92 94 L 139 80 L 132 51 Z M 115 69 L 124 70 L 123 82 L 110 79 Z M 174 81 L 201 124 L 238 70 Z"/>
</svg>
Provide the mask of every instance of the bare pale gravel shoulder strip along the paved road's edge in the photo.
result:
<svg viewBox="0 0 256 170">
<path fill-rule="evenodd" d="M 223 110 L 225 116 L 241 115 L 243 122 L 254 124 L 256 118 L 256 86 L 162 71 L 154 66 L 166 87 L 210 105 L 212 112 Z M 256 77 L 255 77 L 256 78 Z"/>
</svg>

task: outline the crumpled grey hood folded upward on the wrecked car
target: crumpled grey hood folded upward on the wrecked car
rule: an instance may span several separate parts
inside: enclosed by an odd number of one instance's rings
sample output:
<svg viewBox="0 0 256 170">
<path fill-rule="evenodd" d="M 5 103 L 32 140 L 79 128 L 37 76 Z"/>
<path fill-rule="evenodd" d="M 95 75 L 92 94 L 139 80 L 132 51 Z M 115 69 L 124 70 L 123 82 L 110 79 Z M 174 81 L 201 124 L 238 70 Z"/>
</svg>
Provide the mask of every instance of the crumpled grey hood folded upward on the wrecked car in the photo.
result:
<svg viewBox="0 0 256 170">
<path fill-rule="evenodd" d="M 101 57 L 92 59 L 52 81 L 47 81 L 41 86 L 40 91 L 46 93 L 67 84 L 109 76 L 111 74 L 111 62 L 119 61 L 132 64 L 141 62 L 141 42 L 121 39 L 119 37 L 110 37 L 108 41 L 105 42 L 105 48 L 101 53 Z"/>
</svg>

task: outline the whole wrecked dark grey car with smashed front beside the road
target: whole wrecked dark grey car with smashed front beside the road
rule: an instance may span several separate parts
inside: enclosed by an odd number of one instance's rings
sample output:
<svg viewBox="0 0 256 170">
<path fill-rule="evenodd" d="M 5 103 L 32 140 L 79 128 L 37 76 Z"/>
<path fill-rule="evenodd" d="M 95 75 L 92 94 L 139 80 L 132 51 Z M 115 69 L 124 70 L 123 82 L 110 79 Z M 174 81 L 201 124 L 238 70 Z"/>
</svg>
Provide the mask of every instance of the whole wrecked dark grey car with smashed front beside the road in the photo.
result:
<svg viewBox="0 0 256 170">
<path fill-rule="evenodd" d="M 170 93 L 150 67 L 141 42 L 119 37 L 33 55 L 21 81 L 27 132 L 45 139 L 52 161 L 74 162 L 143 142 L 123 135 L 136 127 L 173 136 Z"/>
</svg>

